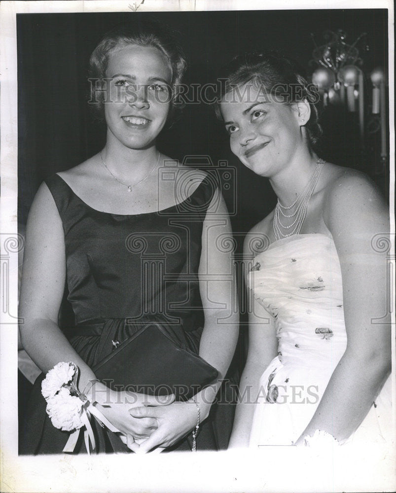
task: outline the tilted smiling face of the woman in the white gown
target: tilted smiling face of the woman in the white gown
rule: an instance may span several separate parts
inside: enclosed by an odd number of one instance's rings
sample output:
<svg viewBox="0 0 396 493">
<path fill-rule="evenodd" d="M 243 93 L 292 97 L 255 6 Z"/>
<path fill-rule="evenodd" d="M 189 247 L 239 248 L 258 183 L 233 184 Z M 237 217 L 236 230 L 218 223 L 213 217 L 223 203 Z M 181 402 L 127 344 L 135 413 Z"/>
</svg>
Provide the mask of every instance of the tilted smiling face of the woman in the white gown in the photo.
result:
<svg viewBox="0 0 396 493">
<path fill-rule="evenodd" d="M 273 176 L 305 145 L 296 105 L 276 102 L 252 83 L 227 93 L 220 110 L 232 152 L 257 175 Z"/>
</svg>

